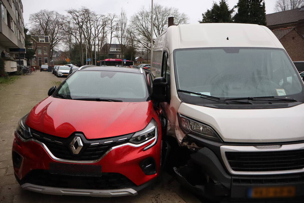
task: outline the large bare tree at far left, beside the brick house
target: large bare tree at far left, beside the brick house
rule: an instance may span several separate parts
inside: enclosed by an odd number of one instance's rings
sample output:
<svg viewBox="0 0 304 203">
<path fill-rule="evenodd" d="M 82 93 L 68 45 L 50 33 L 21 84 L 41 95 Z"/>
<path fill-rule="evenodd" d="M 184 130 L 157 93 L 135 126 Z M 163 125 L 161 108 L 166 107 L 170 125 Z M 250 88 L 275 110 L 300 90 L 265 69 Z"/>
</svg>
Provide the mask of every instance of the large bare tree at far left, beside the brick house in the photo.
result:
<svg viewBox="0 0 304 203">
<path fill-rule="evenodd" d="M 30 33 L 50 37 L 50 59 L 53 57 L 54 47 L 62 43 L 65 33 L 62 32 L 64 16 L 56 11 L 41 10 L 30 15 Z"/>
</svg>

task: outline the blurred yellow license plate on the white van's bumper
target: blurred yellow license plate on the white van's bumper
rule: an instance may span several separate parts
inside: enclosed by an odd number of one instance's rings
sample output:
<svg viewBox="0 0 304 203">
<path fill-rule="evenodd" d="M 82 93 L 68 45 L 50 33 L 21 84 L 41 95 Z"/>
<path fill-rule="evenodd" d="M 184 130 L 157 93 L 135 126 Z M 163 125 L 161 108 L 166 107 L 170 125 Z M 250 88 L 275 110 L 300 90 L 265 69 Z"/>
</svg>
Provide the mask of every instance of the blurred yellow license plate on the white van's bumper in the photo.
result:
<svg viewBox="0 0 304 203">
<path fill-rule="evenodd" d="M 295 186 L 258 187 L 248 191 L 250 198 L 287 198 L 295 196 Z"/>
</svg>

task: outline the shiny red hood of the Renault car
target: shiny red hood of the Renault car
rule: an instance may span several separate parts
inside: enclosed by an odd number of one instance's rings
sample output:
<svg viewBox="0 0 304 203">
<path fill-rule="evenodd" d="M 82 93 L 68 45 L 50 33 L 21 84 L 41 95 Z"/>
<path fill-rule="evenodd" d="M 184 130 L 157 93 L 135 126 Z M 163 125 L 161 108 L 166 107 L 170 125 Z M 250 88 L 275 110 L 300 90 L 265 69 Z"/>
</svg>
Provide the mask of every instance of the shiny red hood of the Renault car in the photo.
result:
<svg viewBox="0 0 304 203">
<path fill-rule="evenodd" d="M 154 115 L 152 111 L 151 101 L 81 101 L 50 96 L 32 109 L 26 124 L 54 136 L 65 138 L 83 132 L 87 139 L 99 139 L 144 129 Z"/>
</svg>

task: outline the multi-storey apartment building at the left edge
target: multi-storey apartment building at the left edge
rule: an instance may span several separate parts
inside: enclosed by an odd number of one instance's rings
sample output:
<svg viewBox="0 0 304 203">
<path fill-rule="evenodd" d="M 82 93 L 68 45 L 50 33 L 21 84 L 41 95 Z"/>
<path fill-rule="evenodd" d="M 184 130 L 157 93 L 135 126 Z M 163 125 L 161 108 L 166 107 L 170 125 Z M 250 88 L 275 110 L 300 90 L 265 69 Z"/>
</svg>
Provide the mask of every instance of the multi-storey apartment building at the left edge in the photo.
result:
<svg viewBox="0 0 304 203">
<path fill-rule="evenodd" d="M 17 61 L 26 65 L 24 20 L 21 0 L 0 0 L 0 52 L 5 60 L 5 71 L 17 71 Z M 4 51 L 4 52 L 3 52 Z"/>
</svg>

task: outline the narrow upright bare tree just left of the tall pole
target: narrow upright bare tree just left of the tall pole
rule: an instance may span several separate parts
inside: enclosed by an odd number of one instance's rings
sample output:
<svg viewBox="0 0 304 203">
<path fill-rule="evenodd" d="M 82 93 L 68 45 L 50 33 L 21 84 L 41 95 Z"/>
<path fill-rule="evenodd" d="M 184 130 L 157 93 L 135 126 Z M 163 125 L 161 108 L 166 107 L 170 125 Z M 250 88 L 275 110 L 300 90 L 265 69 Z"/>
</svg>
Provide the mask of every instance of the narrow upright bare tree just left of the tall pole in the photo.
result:
<svg viewBox="0 0 304 203">
<path fill-rule="evenodd" d="M 121 49 L 121 53 L 122 53 L 122 58 L 123 59 L 123 55 L 126 51 L 126 45 L 127 45 L 127 41 L 128 41 L 128 33 L 127 33 L 127 23 L 128 23 L 128 18 L 126 15 L 126 12 L 121 9 L 118 21 L 117 21 L 117 30 L 115 33 L 115 37 L 119 43 L 119 48 Z"/>
</svg>

